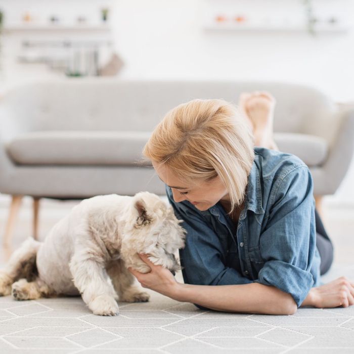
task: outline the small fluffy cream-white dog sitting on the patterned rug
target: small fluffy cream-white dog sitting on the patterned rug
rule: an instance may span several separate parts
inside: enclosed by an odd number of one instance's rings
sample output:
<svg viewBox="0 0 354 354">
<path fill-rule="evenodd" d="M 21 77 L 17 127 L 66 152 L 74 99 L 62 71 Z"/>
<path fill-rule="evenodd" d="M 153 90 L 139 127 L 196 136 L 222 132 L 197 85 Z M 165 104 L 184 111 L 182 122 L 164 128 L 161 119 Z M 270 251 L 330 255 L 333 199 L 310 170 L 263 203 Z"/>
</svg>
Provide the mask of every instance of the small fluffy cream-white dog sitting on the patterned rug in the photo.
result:
<svg viewBox="0 0 354 354">
<path fill-rule="evenodd" d="M 171 206 L 148 192 L 85 199 L 44 242 L 28 238 L 12 254 L 0 272 L 0 295 L 27 300 L 81 294 L 95 315 L 116 315 L 117 294 L 120 301 L 149 300 L 127 270 L 150 272 L 138 253 L 172 272 L 180 269 L 173 255 L 184 247 L 180 223 Z"/>
</svg>

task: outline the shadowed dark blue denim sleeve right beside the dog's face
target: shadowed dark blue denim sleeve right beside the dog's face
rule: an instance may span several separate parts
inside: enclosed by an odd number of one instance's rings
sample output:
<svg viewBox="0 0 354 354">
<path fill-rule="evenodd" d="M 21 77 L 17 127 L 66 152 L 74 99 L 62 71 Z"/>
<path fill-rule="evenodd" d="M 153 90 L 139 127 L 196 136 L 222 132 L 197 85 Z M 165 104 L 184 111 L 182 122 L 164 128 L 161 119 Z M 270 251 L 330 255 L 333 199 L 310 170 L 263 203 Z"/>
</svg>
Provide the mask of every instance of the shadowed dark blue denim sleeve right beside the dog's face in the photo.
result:
<svg viewBox="0 0 354 354">
<path fill-rule="evenodd" d="M 188 202 L 174 202 L 169 187 L 166 187 L 166 193 L 176 217 L 183 220 L 181 225 L 187 231 L 185 248 L 180 250 L 185 283 L 195 285 L 252 283 L 235 269 L 226 267 L 226 255 L 223 254 L 220 239 L 203 216 Z"/>
</svg>

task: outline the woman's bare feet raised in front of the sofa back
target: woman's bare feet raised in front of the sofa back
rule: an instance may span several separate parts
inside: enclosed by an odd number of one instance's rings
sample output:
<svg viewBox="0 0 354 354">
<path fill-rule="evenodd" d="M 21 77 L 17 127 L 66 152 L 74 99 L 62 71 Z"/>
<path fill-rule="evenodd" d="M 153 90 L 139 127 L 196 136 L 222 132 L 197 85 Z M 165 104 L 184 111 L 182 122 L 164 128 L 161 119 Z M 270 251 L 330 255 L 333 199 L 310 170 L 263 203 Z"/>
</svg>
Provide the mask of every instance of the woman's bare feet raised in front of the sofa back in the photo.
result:
<svg viewBox="0 0 354 354">
<path fill-rule="evenodd" d="M 273 140 L 275 98 L 267 92 L 243 93 L 239 108 L 251 124 L 255 145 L 277 150 Z"/>
</svg>

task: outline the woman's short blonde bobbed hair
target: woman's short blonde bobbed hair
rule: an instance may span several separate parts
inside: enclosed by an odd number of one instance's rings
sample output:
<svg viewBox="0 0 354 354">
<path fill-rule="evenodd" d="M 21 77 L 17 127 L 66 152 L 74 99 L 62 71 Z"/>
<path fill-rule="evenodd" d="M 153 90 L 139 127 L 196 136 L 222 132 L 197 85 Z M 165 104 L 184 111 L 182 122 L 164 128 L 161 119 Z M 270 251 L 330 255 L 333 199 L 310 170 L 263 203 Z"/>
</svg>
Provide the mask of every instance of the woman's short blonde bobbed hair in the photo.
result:
<svg viewBox="0 0 354 354">
<path fill-rule="evenodd" d="M 165 115 L 143 154 L 182 175 L 186 182 L 219 176 L 229 192 L 232 212 L 244 199 L 254 158 L 253 138 L 231 103 L 193 100 Z"/>
</svg>

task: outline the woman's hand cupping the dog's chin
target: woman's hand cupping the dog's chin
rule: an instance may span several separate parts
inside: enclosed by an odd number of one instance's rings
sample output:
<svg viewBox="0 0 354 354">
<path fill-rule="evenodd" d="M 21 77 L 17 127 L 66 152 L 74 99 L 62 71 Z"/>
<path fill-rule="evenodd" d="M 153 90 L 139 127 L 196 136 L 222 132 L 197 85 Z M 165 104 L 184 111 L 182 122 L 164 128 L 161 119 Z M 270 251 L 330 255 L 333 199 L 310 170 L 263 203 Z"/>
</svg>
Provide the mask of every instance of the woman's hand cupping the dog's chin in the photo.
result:
<svg viewBox="0 0 354 354">
<path fill-rule="evenodd" d="M 128 268 L 129 272 L 133 274 L 141 283 L 143 288 L 148 288 L 159 292 L 160 294 L 172 297 L 176 294 L 180 285 L 172 273 L 162 267 L 162 265 L 154 264 L 147 254 L 139 254 L 140 258 L 151 268 L 149 273 L 140 273 L 132 268 Z"/>
</svg>

